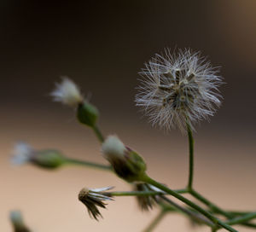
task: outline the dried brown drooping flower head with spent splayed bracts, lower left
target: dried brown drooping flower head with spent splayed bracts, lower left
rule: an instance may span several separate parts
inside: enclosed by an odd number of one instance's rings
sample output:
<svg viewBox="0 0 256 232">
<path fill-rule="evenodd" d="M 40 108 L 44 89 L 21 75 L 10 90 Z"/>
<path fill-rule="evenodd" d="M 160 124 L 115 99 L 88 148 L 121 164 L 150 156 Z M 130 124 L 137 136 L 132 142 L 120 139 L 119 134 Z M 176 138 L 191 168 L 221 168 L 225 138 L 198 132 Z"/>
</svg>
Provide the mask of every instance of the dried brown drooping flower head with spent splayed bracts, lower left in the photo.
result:
<svg viewBox="0 0 256 232">
<path fill-rule="evenodd" d="M 79 200 L 87 207 L 90 217 L 94 217 L 96 220 L 98 220 L 98 217 L 102 217 L 97 206 L 106 208 L 107 204 L 103 202 L 103 200 L 113 200 L 111 194 L 106 192 L 112 188 L 113 187 L 95 189 L 83 188 L 79 192 Z"/>
</svg>

